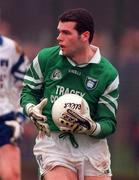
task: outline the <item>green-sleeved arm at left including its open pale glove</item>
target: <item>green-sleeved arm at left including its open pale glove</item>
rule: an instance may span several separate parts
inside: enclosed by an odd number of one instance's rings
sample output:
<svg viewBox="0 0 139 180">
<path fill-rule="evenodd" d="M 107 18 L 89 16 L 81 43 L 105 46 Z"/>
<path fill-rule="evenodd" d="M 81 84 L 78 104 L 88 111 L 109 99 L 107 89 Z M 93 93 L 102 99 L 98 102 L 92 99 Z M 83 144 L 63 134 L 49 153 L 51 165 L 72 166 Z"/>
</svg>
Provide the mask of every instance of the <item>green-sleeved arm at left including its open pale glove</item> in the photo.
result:
<svg viewBox="0 0 139 180">
<path fill-rule="evenodd" d="M 50 136 L 47 117 L 42 114 L 47 104 L 47 99 L 42 100 L 43 75 L 38 61 L 38 56 L 33 60 L 24 77 L 20 104 L 24 113 L 33 121 L 39 131 Z"/>
</svg>

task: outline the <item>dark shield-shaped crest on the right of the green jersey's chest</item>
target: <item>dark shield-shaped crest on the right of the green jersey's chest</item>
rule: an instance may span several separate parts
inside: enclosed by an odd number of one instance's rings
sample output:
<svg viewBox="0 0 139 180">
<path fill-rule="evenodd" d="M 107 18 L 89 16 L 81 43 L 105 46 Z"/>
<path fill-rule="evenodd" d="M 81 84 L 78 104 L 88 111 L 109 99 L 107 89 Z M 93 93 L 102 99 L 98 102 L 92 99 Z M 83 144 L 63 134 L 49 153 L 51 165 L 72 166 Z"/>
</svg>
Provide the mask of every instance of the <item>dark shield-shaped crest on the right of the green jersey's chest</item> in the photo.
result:
<svg viewBox="0 0 139 180">
<path fill-rule="evenodd" d="M 97 87 L 98 80 L 92 78 L 92 77 L 87 77 L 85 80 L 85 86 L 87 90 L 93 90 Z"/>
</svg>

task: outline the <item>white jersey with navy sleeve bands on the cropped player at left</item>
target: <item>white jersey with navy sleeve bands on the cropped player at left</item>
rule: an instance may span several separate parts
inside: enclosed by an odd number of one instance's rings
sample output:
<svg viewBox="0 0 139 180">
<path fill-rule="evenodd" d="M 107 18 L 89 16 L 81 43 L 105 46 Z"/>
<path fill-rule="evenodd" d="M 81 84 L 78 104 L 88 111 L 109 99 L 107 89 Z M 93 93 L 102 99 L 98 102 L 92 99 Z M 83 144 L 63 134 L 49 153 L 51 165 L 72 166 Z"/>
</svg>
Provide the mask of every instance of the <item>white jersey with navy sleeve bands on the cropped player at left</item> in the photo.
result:
<svg viewBox="0 0 139 180">
<path fill-rule="evenodd" d="M 0 36 L 0 116 L 19 111 L 19 93 L 28 63 L 15 41 Z"/>
</svg>

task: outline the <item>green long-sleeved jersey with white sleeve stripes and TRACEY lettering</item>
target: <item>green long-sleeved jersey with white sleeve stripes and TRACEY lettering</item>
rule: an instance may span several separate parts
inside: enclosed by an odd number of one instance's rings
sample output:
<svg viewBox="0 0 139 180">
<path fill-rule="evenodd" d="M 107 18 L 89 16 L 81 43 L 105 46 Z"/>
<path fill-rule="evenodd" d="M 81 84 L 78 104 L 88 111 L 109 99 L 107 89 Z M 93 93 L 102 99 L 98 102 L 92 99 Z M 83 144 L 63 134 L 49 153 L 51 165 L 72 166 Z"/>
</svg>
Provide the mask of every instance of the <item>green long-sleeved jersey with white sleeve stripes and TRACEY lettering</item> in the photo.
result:
<svg viewBox="0 0 139 180">
<path fill-rule="evenodd" d="M 41 50 L 33 60 L 24 78 L 21 106 L 38 104 L 48 98 L 43 109 L 51 131 L 58 131 L 51 115 L 53 103 L 65 93 L 82 96 L 90 107 L 91 118 L 100 124 L 96 138 L 105 138 L 116 129 L 118 72 L 99 49 L 88 64 L 77 65 L 63 56 L 59 46 Z"/>
</svg>

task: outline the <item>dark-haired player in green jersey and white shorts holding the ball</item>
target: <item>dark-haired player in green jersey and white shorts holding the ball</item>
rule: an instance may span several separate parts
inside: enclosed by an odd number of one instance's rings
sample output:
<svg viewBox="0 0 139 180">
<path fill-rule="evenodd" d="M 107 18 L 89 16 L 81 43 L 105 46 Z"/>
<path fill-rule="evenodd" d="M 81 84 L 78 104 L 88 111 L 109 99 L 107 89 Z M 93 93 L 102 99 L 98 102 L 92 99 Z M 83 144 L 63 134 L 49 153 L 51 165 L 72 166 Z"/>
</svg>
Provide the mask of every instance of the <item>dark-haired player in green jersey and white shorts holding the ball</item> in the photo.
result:
<svg viewBox="0 0 139 180">
<path fill-rule="evenodd" d="M 116 130 L 118 72 L 91 44 L 86 9 L 61 14 L 57 30 L 58 46 L 37 54 L 20 99 L 39 130 L 33 150 L 41 178 L 111 180 L 106 138 Z"/>
</svg>

